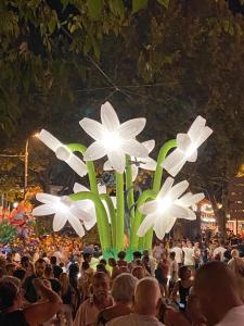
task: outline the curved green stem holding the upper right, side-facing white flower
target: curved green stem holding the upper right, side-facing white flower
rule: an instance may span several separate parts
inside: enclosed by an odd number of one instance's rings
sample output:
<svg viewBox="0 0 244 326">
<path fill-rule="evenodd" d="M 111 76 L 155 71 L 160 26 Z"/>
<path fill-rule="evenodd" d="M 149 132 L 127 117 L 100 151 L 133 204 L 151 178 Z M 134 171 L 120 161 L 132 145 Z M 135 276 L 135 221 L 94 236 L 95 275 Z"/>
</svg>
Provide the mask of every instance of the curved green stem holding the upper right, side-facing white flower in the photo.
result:
<svg viewBox="0 0 244 326">
<path fill-rule="evenodd" d="M 168 152 L 177 147 L 177 140 L 171 139 L 168 140 L 159 150 L 158 156 L 157 156 L 157 167 L 154 175 L 153 180 L 153 191 L 156 193 L 160 190 L 160 184 L 162 184 L 162 177 L 163 177 L 163 162 L 165 158 L 167 156 Z M 144 249 L 151 250 L 152 249 L 152 241 L 153 241 L 153 228 L 151 228 L 144 236 Z"/>
</svg>

